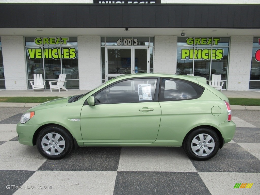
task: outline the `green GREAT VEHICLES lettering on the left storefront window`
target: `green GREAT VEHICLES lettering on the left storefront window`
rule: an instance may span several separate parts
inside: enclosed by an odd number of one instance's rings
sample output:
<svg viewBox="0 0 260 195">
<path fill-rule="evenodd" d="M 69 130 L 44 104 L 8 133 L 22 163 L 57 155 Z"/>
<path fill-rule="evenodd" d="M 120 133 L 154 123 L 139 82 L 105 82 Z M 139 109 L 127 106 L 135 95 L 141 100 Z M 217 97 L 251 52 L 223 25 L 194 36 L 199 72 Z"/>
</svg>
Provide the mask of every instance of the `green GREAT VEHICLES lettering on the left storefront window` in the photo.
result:
<svg viewBox="0 0 260 195">
<path fill-rule="evenodd" d="M 57 44 L 67 44 L 68 37 L 36 37 L 35 44 L 52 46 Z M 74 47 L 51 47 L 51 48 L 26 48 L 29 59 L 75 59 L 77 56 L 76 48 Z"/>
</svg>

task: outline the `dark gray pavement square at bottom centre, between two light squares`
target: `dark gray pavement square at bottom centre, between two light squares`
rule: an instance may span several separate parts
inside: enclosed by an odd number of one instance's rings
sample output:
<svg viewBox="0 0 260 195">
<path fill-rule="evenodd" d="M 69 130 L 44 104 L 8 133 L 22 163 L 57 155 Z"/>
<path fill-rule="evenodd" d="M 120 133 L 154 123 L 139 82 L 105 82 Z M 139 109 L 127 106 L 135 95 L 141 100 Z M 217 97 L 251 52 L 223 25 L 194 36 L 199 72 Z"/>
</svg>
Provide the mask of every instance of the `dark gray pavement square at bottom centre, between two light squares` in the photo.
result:
<svg viewBox="0 0 260 195">
<path fill-rule="evenodd" d="M 210 194 L 195 172 L 125 172 L 116 176 L 114 195 Z"/>
</svg>

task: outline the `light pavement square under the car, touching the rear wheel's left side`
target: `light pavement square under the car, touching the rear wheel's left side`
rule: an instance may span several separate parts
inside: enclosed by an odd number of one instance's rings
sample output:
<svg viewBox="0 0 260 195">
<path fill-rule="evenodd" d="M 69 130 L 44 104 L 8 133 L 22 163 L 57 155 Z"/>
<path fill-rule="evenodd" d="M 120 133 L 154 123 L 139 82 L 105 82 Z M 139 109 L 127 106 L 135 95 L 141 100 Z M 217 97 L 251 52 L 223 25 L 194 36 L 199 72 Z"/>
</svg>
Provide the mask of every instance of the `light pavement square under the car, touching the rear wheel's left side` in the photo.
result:
<svg viewBox="0 0 260 195">
<path fill-rule="evenodd" d="M 118 171 L 196 172 L 180 147 L 122 147 Z"/>
</svg>

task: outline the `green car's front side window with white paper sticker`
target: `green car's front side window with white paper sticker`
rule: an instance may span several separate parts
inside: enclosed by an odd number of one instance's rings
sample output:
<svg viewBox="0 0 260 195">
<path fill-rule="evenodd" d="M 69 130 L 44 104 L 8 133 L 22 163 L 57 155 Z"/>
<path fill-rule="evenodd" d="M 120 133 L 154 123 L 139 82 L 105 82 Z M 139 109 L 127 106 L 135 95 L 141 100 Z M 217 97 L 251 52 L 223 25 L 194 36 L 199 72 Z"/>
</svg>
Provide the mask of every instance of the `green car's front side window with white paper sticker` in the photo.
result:
<svg viewBox="0 0 260 195">
<path fill-rule="evenodd" d="M 157 78 L 124 80 L 95 95 L 96 104 L 154 101 Z"/>
</svg>

